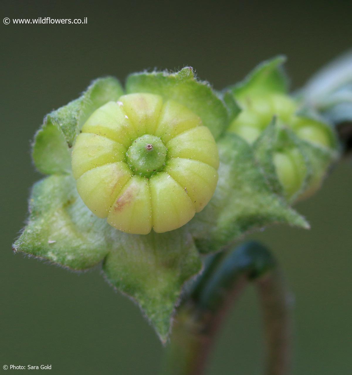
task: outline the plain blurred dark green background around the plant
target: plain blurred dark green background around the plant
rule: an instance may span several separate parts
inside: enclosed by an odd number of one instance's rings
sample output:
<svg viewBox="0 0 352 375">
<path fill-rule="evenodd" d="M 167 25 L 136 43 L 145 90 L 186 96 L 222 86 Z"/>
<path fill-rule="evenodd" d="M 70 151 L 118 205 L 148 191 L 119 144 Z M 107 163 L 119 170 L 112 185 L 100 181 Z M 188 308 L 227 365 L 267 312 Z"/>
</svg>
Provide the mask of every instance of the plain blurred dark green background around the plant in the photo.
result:
<svg viewBox="0 0 352 375">
<path fill-rule="evenodd" d="M 288 56 L 292 88 L 351 48 L 351 2 L 2 1 L 1 19 L 84 18 L 87 25 L 1 23 L 0 371 L 51 364 L 51 374 L 156 374 L 163 347 L 139 309 L 100 275 L 13 255 L 30 186 L 30 140 L 43 116 L 93 78 L 192 65 L 216 89 L 265 58 Z M 297 205 L 304 231 L 251 238 L 277 255 L 295 296 L 294 374 L 352 374 L 352 168 Z M 261 315 L 249 288 L 216 340 L 207 374 L 262 374 Z M 7 370 L 10 371 L 10 370 Z"/>
</svg>

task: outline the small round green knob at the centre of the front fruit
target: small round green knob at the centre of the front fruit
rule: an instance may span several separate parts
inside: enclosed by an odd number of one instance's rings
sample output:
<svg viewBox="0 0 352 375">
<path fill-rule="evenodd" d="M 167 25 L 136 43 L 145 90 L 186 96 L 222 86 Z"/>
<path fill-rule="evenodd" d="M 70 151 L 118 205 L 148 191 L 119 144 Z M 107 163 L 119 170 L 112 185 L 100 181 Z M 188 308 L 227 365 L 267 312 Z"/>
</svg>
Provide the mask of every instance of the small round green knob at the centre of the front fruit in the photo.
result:
<svg viewBox="0 0 352 375">
<path fill-rule="evenodd" d="M 127 151 L 127 161 L 136 174 L 150 177 L 164 168 L 166 151 L 159 137 L 145 134 L 132 142 Z"/>
</svg>

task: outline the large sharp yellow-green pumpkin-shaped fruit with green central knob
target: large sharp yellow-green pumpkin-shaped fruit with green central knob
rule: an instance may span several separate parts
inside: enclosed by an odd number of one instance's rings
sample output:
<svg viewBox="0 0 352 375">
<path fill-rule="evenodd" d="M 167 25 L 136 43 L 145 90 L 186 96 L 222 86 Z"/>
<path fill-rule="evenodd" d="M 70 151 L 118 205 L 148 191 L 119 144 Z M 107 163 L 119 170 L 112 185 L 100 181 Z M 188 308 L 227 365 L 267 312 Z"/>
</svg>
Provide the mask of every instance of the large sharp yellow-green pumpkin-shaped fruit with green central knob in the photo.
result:
<svg viewBox="0 0 352 375">
<path fill-rule="evenodd" d="M 87 207 L 133 234 L 167 232 L 191 220 L 213 196 L 218 166 L 215 140 L 201 119 L 146 93 L 98 108 L 72 151 Z"/>
</svg>

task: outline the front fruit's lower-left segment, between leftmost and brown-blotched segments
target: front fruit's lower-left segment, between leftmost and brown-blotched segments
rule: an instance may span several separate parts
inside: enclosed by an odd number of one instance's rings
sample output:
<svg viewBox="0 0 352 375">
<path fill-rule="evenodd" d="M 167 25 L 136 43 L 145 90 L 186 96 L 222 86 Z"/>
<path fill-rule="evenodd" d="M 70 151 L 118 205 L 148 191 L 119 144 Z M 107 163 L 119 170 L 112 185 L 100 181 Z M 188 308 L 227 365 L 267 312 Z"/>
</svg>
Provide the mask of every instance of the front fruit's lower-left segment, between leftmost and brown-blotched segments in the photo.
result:
<svg viewBox="0 0 352 375">
<path fill-rule="evenodd" d="M 105 164 L 85 172 L 77 180 L 77 190 L 89 210 L 106 217 L 132 172 L 124 162 Z"/>
</svg>

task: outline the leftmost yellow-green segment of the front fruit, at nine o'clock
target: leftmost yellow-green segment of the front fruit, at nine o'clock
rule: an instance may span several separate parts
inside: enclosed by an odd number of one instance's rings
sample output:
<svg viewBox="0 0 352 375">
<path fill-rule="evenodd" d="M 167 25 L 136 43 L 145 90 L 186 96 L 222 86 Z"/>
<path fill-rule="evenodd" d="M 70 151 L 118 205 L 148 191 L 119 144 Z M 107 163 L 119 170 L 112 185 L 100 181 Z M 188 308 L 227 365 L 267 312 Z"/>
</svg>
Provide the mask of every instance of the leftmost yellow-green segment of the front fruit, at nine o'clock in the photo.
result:
<svg viewBox="0 0 352 375">
<path fill-rule="evenodd" d="M 72 152 L 72 172 L 77 179 L 89 169 L 125 159 L 126 148 L 111 139 L 92 133 L 81 133 Z"/>
</svg>

